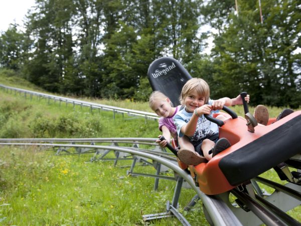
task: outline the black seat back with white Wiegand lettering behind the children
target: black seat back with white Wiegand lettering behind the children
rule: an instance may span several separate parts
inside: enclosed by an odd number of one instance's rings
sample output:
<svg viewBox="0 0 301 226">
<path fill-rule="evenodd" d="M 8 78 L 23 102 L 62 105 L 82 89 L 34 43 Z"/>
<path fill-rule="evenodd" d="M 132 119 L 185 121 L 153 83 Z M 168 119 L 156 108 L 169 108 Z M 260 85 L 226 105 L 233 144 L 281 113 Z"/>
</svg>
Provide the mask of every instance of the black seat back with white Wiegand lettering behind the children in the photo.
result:
<svg viewBox="0 0 301 226">
<path fill-rule="evenodd" d="M 182 87 L 192 78 L 182 64 L 172 57 L 154 60 L 148 67 L 147 77 L 152 89 L 163 92 L 174 106 L 180 105 Z"/>
</svg>

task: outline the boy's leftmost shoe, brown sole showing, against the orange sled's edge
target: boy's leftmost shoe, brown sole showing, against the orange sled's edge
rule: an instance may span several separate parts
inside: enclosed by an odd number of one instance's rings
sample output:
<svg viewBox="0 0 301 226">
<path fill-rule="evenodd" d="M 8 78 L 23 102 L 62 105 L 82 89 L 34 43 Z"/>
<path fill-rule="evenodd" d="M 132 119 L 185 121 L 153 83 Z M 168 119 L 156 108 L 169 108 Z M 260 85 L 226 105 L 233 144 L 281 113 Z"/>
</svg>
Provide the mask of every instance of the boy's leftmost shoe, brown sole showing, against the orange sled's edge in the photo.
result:
<svg viewBox="0 0 301 226">
<path fill-rule="evenodd" d="M 199 165 L 200 163 L 208 162 L 204 156 L 201 156 L 196 151 L 181 148 L 178 152 L 178 158 L 186 165 Z"/>
</svg>

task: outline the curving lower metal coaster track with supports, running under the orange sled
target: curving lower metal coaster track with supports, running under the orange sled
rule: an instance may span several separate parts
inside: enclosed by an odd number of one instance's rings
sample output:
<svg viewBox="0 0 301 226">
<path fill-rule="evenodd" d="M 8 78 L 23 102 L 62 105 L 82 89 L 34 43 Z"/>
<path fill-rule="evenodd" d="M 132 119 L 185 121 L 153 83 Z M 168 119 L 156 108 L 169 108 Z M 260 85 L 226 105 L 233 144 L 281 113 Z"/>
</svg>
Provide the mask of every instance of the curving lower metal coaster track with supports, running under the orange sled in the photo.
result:
<svg viewBox="0 0 301 226">
<path fill-rule="evenodd" d="M 57 150 L 73 148 L 76 150 L 70 154 L 97 153 L 97 151 L 99 152 L 100 150 L 102 153 L 105 153 L 105 151 L 113 151 L 160 163 L 160 165 L 173 170 L 177 175 L 177 177 L 173 179 L 177 181 L 174 197 L 171 203 L 168 201 L 166 212 L 144 215 L 144 220 L 176 216 L 183 225 L 190 225 L 185 217 L 177 210 L 181 188 L 183 182 L 186 181 L 193 191 L 196 192 L 195 199 L 200 198 L 202 200 L 205 216 L 211 225 L 259 225 L 262 223 L 266 225 L 301 225 L 300 222 L 285 213 L 285 211 L 301 204 L 301 186 L 299 184 L 288 182 L 285 185 L 280 185 L 273 181 L 256 177 L 252 180 L 252 183 L 246 184 L 243 188 L 237 187 L 230 191 L 237 198 L 233 204 L 229 201 L 230 192 L 210 196 L 201 192 L 195 185 L 193 178 L 176 164 L 176 158 L 171 156 L 169 152 L 160 151 L 155 140 L 156 139 L 143 138 L 0 139 L 0 145 L 39 146 Z M 98 145 L 99 143 L 110 144 Z M 119 146 L 122 143 L 131 144 L 132 147 Z M 153 145 L 155 149 L 139 149 L 137 147 L 138 144 Z M 57 154 L 62 154 L 62 152 L 57 152 Z M 122 158 L 126 159 L 124 156 L 118 160 Z M 105 160 L 105 158 L 98 160 Z M 141 175 L 150 176 L 147 174 Z M 158 179 L 170 179 L 160 176 L 160 170 L 157 175 L 152 176 Z M 257 182 L 275 189 L 275 192 L 268 196 L 263 195 Z M 256 191 L 256 193 L 254 191 Z M 186 208 L 189 209 L 194 203 L 188 204 Z M 240 207 L 237 207 L 236 203 L 239 203 Z"/>
</svg>

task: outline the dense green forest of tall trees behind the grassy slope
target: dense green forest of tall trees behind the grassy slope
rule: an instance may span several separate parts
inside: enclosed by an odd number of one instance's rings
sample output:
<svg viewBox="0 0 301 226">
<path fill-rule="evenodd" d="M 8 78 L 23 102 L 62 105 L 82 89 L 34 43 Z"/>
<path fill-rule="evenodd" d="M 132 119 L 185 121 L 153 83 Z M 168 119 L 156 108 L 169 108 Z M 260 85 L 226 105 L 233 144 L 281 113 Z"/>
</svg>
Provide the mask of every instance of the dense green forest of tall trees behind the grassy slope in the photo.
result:
<svg viewBox="0 0 301 226">
<path fill-rule="evenodd" d="M 211 97 L 301 104 L 298 0 L 36 0 L 0 34 L 0 67 L 50 92 L 146 101 L 150 63 L 170 56 Z M 208 51 L 209 50 L 209 51 Z"/>
</svg>

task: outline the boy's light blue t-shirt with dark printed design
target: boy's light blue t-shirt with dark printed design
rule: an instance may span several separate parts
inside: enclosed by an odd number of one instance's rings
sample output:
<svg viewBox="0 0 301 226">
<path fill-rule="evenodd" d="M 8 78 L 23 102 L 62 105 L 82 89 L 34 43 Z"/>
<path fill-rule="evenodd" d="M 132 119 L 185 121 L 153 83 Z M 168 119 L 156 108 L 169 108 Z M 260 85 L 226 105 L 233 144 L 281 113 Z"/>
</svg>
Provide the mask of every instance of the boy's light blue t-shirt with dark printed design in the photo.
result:
<svg viewBox="0 0 301 226">
<path fill-rule="evenodd" d="M 212 104 L 213 100 L 209 99 L 208 104 Z M 216 111 L 215 111 L 216 112 Z M 187 112 L 186 108 L 180 110 L 174 117 L 174 122 L 177 127 L 177 133 L 179 137 L 183 137 L 184 134 L 181 132 L 181 128 L 186 125 L 191 117 L 193 112 Z M 211 114 L 212 116 L 212 114 Z M 209 138 L 210 136 L 218 134 L 218 126 L 215 123 L 210 122 L 207 120 L 204 115 L 199 117 L 197 128 L 193 136 L 189 137 L 190 142 L 193 145 L 198 145 L 200 141 L 205 140 L 206 138 Z"/>
</svg>

